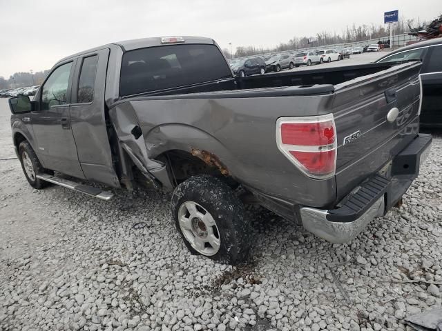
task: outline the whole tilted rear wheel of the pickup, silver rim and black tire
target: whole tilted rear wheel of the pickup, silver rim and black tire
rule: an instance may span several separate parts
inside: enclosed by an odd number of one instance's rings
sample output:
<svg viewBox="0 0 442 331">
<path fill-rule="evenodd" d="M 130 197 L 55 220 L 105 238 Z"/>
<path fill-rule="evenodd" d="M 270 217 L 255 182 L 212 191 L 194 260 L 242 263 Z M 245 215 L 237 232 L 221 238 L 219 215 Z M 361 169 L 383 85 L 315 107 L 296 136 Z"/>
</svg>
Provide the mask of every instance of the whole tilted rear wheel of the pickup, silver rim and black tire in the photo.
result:
<svg viewBox="0 0 442 331">
<path fill-rule="evenodd" d="M 203 174 L 178 185 L 172 195 L 172 212 L 192 254 L 233 265 L 247 260 L 251 225 L 240 199 L 220 179 Z"/>
</svg>

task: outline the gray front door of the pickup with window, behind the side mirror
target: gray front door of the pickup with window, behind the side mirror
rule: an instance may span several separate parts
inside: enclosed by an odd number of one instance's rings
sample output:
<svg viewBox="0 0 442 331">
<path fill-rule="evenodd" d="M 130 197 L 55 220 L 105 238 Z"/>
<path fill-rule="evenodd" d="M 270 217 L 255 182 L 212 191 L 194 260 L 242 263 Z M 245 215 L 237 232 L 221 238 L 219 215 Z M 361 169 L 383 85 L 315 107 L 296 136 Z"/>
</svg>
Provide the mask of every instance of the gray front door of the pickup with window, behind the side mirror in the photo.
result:
<svg viewBox="0 0 442 331">
<path fill-rule="evenodd" d="M 45 168 L 84 179 L 70 126 L 70 86 L 75 61 L 61 63 L 44 82 L 31 113 L 38 155 Z"/>
</svg>

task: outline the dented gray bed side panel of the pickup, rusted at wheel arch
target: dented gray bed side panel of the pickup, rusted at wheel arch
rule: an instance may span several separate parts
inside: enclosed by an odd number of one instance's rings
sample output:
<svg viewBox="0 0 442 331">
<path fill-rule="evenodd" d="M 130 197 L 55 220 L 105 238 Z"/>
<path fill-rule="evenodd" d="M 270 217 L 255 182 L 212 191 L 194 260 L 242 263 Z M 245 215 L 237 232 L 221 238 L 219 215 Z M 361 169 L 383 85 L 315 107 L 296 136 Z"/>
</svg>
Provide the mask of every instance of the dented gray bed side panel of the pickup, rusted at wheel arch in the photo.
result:
<svg viewBox="0 0 442 331">
<path fill-rule="evenodd" d="M 155 159 L 168 150 L 199 157 L 204 151 L 256 192 L 291 204 L 324 206 L 336 199 L 335 179 L 318 181 L 302 174 L 279 152 L 275 130 L 279 117 L 330 112 L 332 100 L 332 94 L 253 99 L 137 97 L 117 103 L 111 117 L 119 137 L 122 134 L 120 140 L 137 150 L 140 158 Z M 134 124 L 142 128 L 144 146 L 129 133 Z"/>
</svg>

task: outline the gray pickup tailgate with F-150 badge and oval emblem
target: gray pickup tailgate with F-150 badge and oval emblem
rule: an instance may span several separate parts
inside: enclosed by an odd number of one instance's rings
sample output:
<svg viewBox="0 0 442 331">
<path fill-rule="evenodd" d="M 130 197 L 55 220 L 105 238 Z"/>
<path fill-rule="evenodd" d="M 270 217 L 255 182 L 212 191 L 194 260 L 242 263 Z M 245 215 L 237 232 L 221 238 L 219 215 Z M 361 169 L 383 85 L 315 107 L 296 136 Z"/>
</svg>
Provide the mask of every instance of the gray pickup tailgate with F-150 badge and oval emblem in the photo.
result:
<svg viewBox="0 0 442 331">
<path fill-rule="evenodd" d="M 380 170 L 416 137 L 420 69 L 421 63 L 403 63 L 335 86 L 338 199 Z"/>
</svg>

